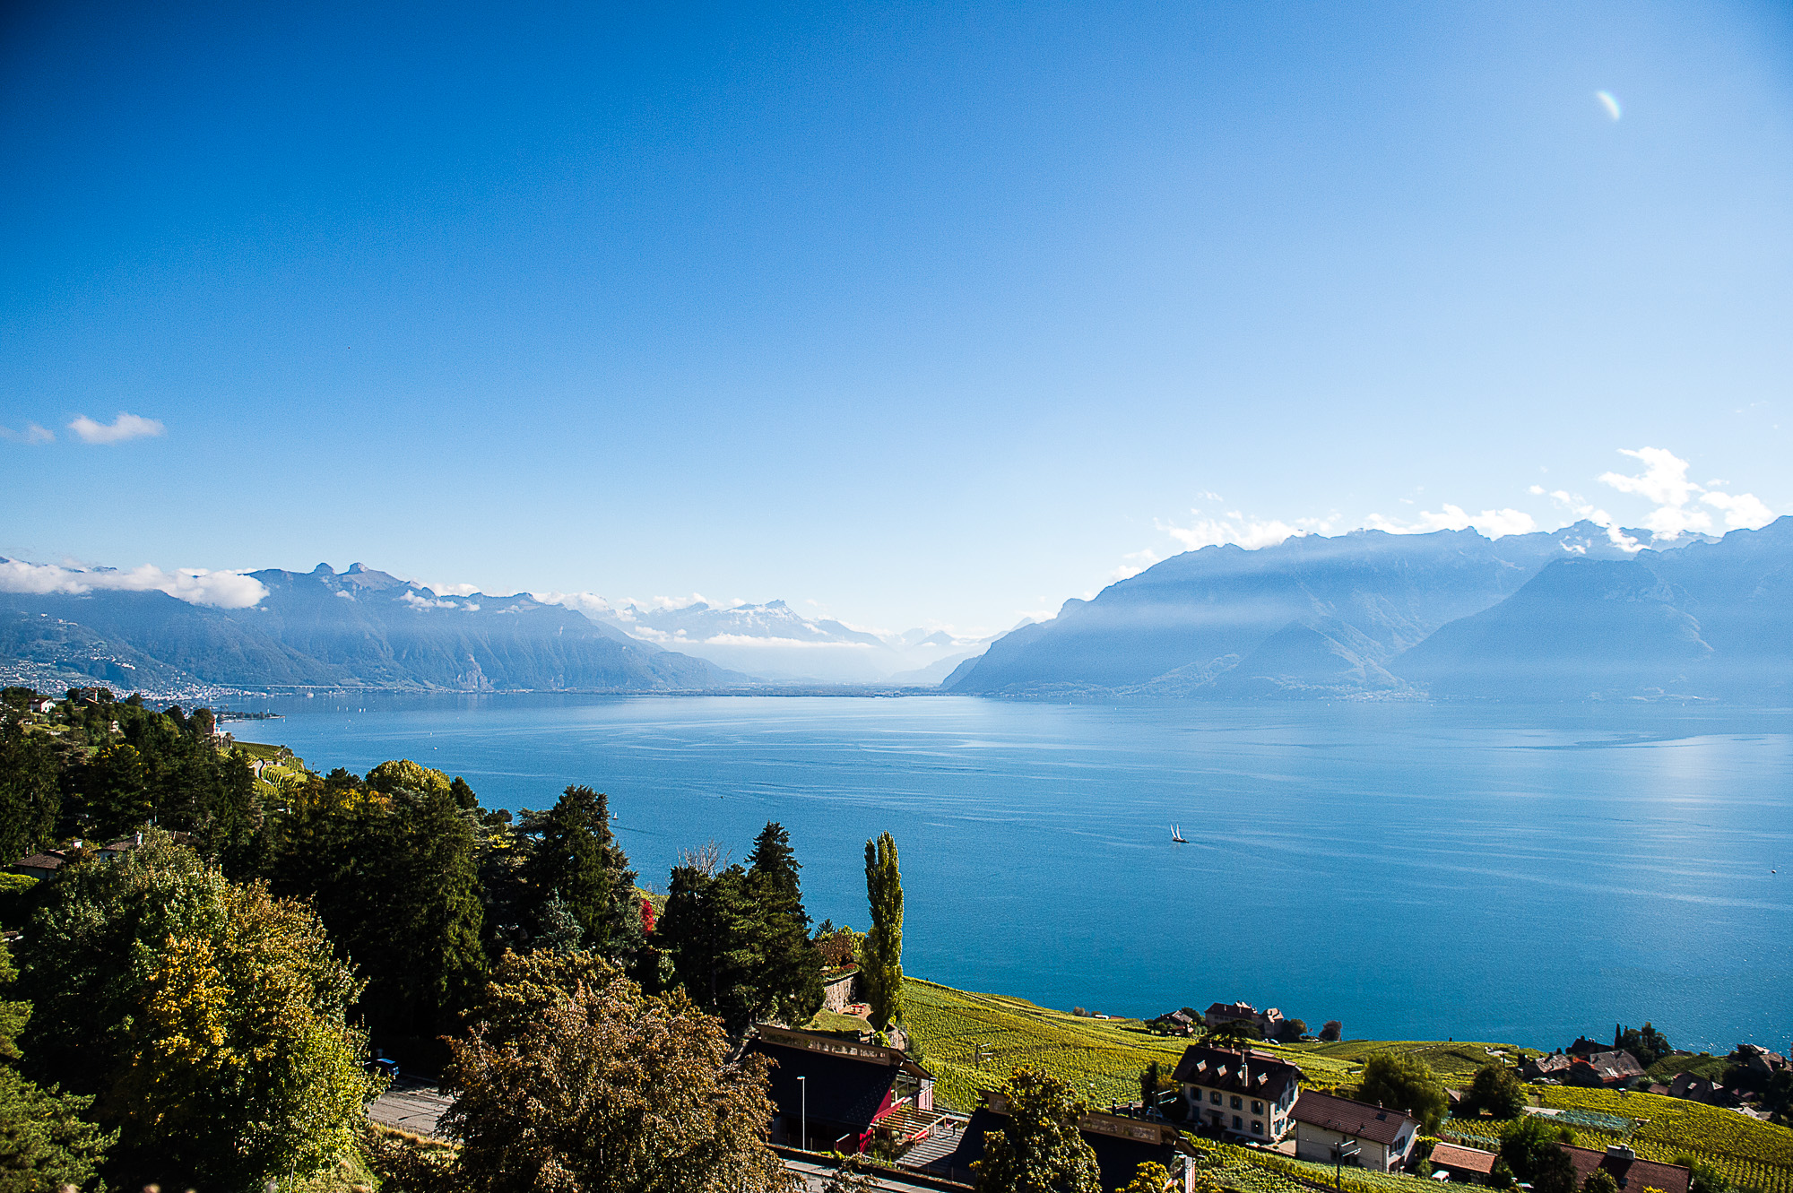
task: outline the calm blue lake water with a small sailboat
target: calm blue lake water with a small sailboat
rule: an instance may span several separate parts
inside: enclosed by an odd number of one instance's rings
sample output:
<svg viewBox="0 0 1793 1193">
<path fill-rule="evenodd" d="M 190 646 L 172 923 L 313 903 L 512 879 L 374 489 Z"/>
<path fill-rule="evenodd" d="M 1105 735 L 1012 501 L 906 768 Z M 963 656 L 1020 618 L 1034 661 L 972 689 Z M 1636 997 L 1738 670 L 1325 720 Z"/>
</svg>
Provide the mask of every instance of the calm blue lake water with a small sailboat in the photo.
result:
<svg viewBox="0 0 1793 1193">
<path fill-rule="evenodd" d="M 249 708 L 249 706 L 246 706 Z M 610 794 L 645 883 L 780 820 L 816 919 L 902 854 L 904 967 L 1049 1007 L 1243 998 L 1354 1037 L 1793 1035 L 1793 715 L 968 697 L 274 700 L 314 768 Z M 1182 824 L 1187 845 L 1169 840 Z M 1771 874 L 1770 871 L 1779 871 Z"/>
</svg>

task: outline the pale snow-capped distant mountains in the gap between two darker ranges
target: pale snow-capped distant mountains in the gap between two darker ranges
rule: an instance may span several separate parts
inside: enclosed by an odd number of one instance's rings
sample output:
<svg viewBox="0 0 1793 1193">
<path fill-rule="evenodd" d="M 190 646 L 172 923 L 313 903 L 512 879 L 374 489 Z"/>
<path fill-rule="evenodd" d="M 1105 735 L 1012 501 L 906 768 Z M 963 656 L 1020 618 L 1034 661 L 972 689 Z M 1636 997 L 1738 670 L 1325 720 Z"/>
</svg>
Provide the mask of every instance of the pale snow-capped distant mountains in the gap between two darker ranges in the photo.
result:
<svg viewBox="0 0 1793 1193">
<path fill-rule="evenodd" d="M 923 629 L 875 634 L 834 618 L 807 618 L 782 600 L 764 605 L 631 604 L 588 616 L 633 638 L 775 682 L 929 686 L 952 670 L 952 663 L 940 666 L 943 661 L 965 659 L 990 641 Z"/>
</svg>

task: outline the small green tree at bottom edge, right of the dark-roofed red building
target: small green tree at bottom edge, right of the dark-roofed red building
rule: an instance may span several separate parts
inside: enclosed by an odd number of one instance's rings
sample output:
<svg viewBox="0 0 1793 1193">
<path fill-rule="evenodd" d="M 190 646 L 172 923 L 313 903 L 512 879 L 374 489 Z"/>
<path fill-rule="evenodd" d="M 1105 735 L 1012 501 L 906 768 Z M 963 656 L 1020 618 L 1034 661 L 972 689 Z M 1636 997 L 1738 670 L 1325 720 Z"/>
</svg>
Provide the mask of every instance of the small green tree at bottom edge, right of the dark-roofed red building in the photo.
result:
<svg viewBox="0 0 1793 1193">
<path fill-rule="evenodd" d="M 1008 1120 L 972 1163 L 979 1193 L 1099 1193 L 1096 1152 L 1078 1130 L 1085 1105 L 1051 1073 L 1015 1069 L 1002 1086 Z"/>
</svg>

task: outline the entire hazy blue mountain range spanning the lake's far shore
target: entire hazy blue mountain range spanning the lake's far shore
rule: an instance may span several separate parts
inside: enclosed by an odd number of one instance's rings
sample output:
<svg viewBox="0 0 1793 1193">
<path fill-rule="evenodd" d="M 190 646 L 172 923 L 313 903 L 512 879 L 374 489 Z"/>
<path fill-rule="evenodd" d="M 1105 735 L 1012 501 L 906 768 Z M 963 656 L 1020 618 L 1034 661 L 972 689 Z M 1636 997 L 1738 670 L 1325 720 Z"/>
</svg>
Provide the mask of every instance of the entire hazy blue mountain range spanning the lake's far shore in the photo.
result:
<svg viewBox="0 0 1793 1193">
<path fill-rule="evenodd" d="M 977 641 L 873 634 L 778 600 L 437 595 L 360 564 L 249 573 L 262 595 L 233 609 L 95 582 L 0 593 L 0 679 L 154 693 L 880 682 L 1022 699 L 1793 699 L 1793 518 L 1660 548 L 1637 537 L 1576 523 L 1203 546 Z"/>
</svg>

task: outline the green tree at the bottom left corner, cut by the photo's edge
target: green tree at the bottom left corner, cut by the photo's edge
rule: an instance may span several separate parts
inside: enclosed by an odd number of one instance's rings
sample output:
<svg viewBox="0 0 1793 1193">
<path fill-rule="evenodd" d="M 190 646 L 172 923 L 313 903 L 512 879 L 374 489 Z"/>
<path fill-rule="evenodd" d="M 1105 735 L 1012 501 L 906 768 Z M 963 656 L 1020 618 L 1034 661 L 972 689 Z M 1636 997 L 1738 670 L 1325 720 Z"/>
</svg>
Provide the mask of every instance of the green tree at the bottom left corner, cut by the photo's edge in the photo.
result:
<svg viewBox="0 0 1793 1193">
<path fill-rule="evenodd" d="M 18 969 L 0 940 L 0 994 L 13 994 Z M 18 1071 L 18 1034 L 30 1003 L 0 1001 L 0 1193 L 50 1193 L 93 1182 L 118 1134 L 88 1121 L 91 1096 L 43 1089 Z"/>
</svg>

